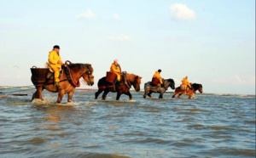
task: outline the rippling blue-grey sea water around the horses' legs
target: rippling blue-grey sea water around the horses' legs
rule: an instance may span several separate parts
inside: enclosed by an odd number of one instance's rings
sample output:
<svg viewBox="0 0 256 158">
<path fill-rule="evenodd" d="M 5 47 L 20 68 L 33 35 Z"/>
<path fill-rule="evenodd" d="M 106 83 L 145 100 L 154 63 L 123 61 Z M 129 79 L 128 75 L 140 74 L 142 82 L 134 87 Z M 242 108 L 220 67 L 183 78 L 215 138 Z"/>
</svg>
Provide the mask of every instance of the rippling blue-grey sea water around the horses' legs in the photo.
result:
<svg viewBox="0 0 256 158">
<path fill-rule="evenodd" d="M 102 101 L 76 90 L 73 103 L 55 104 L 57 93 L 31 101 L 34 91 L 0 88 L 1 158 L 255 157 L 255 95 L 132 92 L 132 101 L 116 93 Z"/>
</svg>

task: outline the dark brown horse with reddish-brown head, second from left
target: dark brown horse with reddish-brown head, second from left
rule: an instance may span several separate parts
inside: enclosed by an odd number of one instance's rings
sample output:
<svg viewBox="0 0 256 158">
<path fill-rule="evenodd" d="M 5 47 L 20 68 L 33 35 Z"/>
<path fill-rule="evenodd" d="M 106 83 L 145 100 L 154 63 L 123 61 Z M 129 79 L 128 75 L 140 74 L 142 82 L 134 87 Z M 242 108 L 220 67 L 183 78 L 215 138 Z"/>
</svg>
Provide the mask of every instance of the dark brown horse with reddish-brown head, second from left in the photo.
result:
<svg viewBox="0 0 256 158">
<path fill-rule="evenodd" d="M 114 86 L 112 83 L 106 82 L 106 77 L 102 77 L 98 81 L 98 91 L 95 93 L 95 99 L 98 98 L 99 94 L 104 91 L 102 94 L 102 99 L 105 100 L 107 97 L 107 94 L 109 92 L 117 92 L 116 100 L 119 100 L 122 93 L 125 93 L 129 96 L 129 99 L 132 99 L 130 88 L 131 86 L 134 87 L 134 89 L 139 92 L 140 91 L 140 84 L 141 84 L 141 76 L 137 76 L 134 74 L 129 74 L 127 72 L 122 73 L 122 79 L 120 81 L 120 84 L 118 86 Z"/>
</svg>

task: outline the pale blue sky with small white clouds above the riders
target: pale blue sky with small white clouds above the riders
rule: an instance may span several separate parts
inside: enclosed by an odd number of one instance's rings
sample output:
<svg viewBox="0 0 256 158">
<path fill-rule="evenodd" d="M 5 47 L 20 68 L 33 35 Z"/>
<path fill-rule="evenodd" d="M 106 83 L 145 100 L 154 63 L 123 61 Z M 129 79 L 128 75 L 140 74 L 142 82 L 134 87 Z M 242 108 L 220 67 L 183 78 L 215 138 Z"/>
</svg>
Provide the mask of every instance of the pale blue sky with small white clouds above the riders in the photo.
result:
<svg viewBox="0 0 256 158">
<path fill-rule="evenodd" d="M 141 89 L 161 69 L 176 87 L 188 76 L 204 93 L 255 95 L 255 0 L 0 0 L 0 86 L 31 86 L 56 44 L 94 68 L 82 88 L 118 59 Z"/>
</svg>

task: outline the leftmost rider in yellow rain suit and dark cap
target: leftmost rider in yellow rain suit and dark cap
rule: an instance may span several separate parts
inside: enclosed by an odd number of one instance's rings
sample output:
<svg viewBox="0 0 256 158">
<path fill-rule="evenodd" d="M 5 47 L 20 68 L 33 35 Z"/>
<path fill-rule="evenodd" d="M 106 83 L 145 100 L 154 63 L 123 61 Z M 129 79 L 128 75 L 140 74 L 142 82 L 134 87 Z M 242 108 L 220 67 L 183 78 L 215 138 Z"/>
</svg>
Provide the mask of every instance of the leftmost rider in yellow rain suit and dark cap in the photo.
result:
<svg viewBox="0 0 256 158">
<path fill-rule="evenodd" d="M 55 45 L 53 49 L 49 51 L 48 62 L 50 68 L 55 73 L 55 86 L 58 87 L 60 82 L 59 76 L 61 71 L 61 65 L 63 65 L 60 55 L 60 46 Z"/>
</svg>

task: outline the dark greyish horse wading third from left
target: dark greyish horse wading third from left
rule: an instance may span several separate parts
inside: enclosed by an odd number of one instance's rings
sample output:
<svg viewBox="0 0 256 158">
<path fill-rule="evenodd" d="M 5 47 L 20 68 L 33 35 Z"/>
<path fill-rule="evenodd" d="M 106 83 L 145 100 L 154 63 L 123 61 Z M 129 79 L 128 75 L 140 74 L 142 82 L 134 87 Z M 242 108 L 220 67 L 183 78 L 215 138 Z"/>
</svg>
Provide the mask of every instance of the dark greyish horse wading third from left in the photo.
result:
<svg viewBox="0 0 256 158">
<path fill-rule="evenodd" d="M 171 87 L 172 89 L 175 89 L 175 82 L 170 79 L 163 79 L 163 87 L 154 87 L 151 86 L 151 82 L 146 82 L 144 84 L 144 95 L 143 98 L 146 99 L 146 95 L 151 98 L 151 93 L 160 93 L 159 99 L 163 99 L 163 94 L 166 93 L 166 90 L 168 87 Z"/>
</svg>

